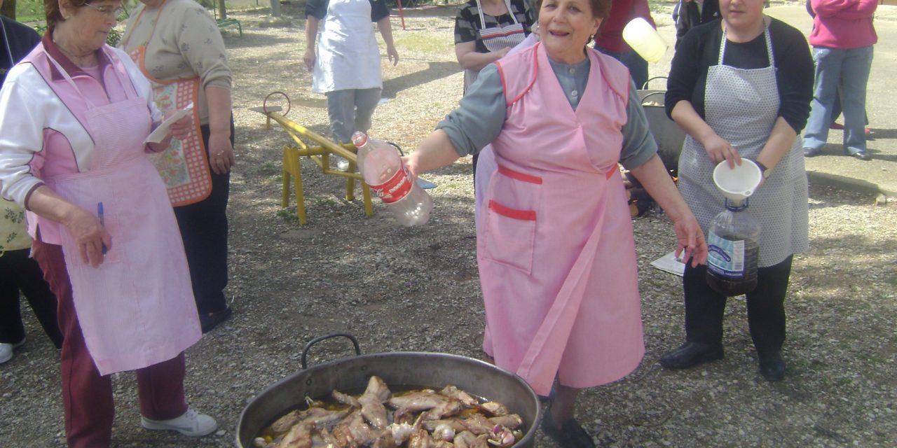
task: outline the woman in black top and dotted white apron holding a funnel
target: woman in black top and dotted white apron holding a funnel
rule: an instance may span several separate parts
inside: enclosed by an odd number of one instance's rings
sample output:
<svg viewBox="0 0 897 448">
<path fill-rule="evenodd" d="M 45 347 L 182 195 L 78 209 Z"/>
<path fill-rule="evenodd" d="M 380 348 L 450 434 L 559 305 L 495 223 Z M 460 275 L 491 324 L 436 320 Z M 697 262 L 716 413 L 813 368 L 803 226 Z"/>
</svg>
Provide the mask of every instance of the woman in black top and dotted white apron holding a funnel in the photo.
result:
<svg viewBox="0 0 897 448">
<path fill-rule="evenodd" d="M 683 127 L 679 189 L 705 231 L 724 210 L 712 180 L 721 161 L 753 159 L 764 181 L 747 212 L 760 222 L 757 288 L 746 295 L 760 373 L 785 375 L 785 294 L 793 254 L 805 252 L 807 185 L 797 134 L 813 98 L 813 60 L 800 31 L 763 15 L 763 0 L 720 0 L 723 20 L 692 28 L 676 49 L 666 112 Z M 685 368 L 723 358 L 726 297 L 707 284 L 706 266 L 683 277 L 685 343 L 663 358 Z"/>
</svg>

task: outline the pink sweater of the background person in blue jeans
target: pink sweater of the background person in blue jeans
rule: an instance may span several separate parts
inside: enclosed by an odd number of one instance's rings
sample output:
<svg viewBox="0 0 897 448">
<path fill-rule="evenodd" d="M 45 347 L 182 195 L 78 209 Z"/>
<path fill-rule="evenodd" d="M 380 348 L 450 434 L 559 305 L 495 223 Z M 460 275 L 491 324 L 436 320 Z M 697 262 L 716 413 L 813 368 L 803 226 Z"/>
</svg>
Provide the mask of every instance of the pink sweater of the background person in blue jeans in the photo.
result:
<svg viewBox="0 0 897 448">
<path fill-rule="evenodd" d="M 810 44 L 850 49 L 875 45 L 872 15 L 878 0 L 811 0 L 816 17 Z"/>
</svg>

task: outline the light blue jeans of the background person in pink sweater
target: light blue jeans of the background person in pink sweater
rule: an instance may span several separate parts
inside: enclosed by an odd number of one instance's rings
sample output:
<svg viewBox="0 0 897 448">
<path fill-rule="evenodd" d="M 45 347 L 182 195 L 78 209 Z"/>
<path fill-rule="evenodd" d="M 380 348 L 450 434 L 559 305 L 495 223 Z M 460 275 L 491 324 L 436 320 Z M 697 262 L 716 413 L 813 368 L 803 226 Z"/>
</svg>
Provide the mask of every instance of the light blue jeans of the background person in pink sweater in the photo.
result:
<svg viewBox="0 0 897 448">
<path fill-rule="evenodd" d="M 816 82 L 813 108 L 804 130 L 804 148 L 822 149 L 829 138 L 832 107 L 842 82 L 844 114 L 844 152 L 852 155 L 866 151 L 866 84 L 872 67 L 872 46 L 840 49 L 814 47 Z"/>
</svg>

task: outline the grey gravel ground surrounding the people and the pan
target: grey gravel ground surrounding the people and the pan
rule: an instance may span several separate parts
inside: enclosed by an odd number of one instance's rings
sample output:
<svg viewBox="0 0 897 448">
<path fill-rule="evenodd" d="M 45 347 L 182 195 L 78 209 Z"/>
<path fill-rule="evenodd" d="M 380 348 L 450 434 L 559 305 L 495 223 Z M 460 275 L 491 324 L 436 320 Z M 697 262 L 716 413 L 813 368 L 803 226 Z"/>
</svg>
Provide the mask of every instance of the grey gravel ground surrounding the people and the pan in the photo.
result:
<svg viewBox="0 0 897 448">
<path fill-rule="evenodd" d="M 483 358 L 483 305 L 475 263 L 469 159 L 425 177 L 436 209 L 423 228 L 400 228 L 382 205 L 363 216 L 344 180 L 303 161 L 309 222 L 282 209 L 281 130 L 249 111 L 266 94 L 292 99 L 292 120 L 327 133 L 324 100 L 301 66 L 300 10 L 292 23 L 234 13 L 226 31 L 235 72 L 238 165 L 231 186 L 228 323 L 187 350 L 188 400 L 218 418 L 216 435 L 186 439 L 139 427 L 135 380 L 115 375 L 118 447 L 232 446 L 239 412 L 258 392 L 300 369 L 308 340 L 352 332 L 366 353 L 419 350 Z M 401 61 L 384 65 L 384 96 L 371 134 L 414 148 L 457 105 L 462 77 L 452 52 L 453 10 L 406 12 L 396 26 Z M 263 80 L 263 81 L 259 81 Z M 356 190 L 356 194 L 360 192 Z M 682 372 L 657 360 L 684 338 L 681 281 L 649 266 L 672 249 L 662 214 L 634 221 L 647 354 L 622 381 L 584 392 L 579 418 L 602 446 L 894 446 L 897 210 L 873 198 L 811 187 L 811 251 L 795 258 L 787 302 L 785 381 L 756 367 L 744 302 L 727 308 L 724 360 Z M 65 444 L 57 352 L 26 312 L 30 339 L 0 366 L 0 446 Z M 318 346 L 311 364 L 346 356 Z M 540 446 L 553 446 L 539 439 Z"/>
</svg>

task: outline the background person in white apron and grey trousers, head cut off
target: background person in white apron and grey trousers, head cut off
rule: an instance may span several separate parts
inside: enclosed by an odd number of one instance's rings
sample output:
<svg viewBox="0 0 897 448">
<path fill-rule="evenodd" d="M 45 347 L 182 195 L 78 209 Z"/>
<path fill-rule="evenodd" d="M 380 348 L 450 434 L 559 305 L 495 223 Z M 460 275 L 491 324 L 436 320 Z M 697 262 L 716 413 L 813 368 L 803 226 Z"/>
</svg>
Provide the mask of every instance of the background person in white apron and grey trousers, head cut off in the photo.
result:
<svg viewBox="0 0 897 448">
<path fill-rule="evenodd" d="M 380 49 L 371 22 L 377 23 L 387 55 L 398 64 L 385 0 L 309 0 L 305 4 L 305 66 L 311 90 L 327 96 L 330 132 L 336 142 L 367 133 L 383 90 Z M 337 158 L 345 170 L 349 162 Z"/>
</svg>

